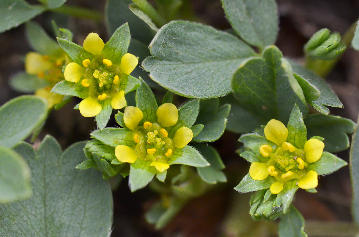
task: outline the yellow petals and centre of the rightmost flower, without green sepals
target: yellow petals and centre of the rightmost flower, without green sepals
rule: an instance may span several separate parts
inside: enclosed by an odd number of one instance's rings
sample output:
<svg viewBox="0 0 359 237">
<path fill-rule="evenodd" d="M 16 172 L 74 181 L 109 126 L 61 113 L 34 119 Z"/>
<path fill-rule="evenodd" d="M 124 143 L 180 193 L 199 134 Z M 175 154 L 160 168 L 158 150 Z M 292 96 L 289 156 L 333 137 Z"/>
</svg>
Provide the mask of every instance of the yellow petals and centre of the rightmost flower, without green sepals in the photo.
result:
<svg viewBox="0 0 359 237">
<path fill-rule="evenodd" d="M 272 194 L 280 193 L 289 181 L 296 180 L 296 185 L 302 189 L 312 189 L 318 185 L 318 174 L 309 169 L 309 163 L 321 158 L 324 143 L 312 138 L 306 141 L 304 149 L 298 149 L 287 141 L 288 133 L 282 122 L 270 120 L 264 127 L 264 135 L 276 146 L 272 147 L 270 142 L 261 145 L 259 151 L 266 162 L 253 162 L 250 166 L 249 174 L 252 179 L 269 178 L 273 181 L 270 186 Z"/>
</svg>

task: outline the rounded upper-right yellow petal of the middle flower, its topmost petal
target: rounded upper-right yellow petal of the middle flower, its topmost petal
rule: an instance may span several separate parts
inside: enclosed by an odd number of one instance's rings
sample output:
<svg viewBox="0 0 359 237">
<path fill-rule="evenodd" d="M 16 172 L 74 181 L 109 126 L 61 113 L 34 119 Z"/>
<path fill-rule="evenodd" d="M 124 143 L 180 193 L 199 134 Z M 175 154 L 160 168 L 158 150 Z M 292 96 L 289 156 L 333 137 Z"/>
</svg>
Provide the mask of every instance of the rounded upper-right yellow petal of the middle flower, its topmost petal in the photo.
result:
<svg viewBox="0 0 359 237">
<path fill-rule="evenodd" d="M 178 109 L 172 103 L 160 105 L 156 111 L 157 122 L 163 127 L 171 127 L 178 121 Z"/>
</svg>

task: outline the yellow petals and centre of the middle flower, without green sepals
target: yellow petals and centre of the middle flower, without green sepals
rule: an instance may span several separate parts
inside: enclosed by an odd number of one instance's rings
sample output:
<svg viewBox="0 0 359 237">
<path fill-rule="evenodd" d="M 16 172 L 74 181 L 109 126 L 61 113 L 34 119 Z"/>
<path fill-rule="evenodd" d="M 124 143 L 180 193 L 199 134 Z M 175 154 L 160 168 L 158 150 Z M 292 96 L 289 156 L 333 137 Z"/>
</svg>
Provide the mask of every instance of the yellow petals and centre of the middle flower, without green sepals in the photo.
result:
<svg viewBox="0 0 359 237">
<path fill-rule="evenodd" d="M 168 127 L 177 124 L 178 109 L 172 103 L 165 103 L 156 111 L 157 121 L 143 121 L 143 112 L 134 106 L 127 106 L 123 122 L 132 131 L 134 147 L 118 145 L 116 158 L 124 163 L 134 163 L 137 159 L 151 161 L 158 172 L 169 168 L 168 160 L 178 149 L 185 147 L 193 138 L 192 130 L 180 127 L 169 133 Z M 167 129 L 166 129 L 167 128 Z M 171 128 L 170 128 L 171 129 Z M 173 134 L 174 135 L 169 135 Z"/>
</svg>

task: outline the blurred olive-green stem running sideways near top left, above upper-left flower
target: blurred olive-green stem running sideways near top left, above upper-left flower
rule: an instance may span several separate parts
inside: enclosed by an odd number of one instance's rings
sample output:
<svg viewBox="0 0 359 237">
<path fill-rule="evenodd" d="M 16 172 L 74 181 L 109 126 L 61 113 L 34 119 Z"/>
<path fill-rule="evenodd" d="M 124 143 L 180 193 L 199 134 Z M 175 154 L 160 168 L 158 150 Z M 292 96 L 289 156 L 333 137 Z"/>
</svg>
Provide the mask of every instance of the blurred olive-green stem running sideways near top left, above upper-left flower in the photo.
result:
<svg viewBox="0 0 359 237">
<path fill-rule="evenodd" d="M 71 15 L 78 18 L 92 19 L 95 21 L 101 21 L 103 18 L 102 14 L 99 11 L 80 8 L 78 6 L 62 5 L 59 8 L 48 9 L 48 10 L 55 13 Z"/>
</svg>

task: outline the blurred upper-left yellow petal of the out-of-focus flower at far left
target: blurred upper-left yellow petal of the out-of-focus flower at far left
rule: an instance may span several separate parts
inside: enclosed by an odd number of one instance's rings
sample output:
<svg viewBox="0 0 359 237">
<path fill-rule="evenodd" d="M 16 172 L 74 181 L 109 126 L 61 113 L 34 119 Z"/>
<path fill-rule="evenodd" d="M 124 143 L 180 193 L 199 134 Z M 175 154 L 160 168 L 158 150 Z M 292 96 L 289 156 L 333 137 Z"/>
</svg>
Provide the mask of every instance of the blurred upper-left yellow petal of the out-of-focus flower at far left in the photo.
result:
<svg viewBox="0 0 359 237">
<path fill-rule="evenodd" d="M 52 64 L 45 60 L 39 53 L 29 52 L 25 56 L 25 71 L 28 74 L 37 74 L 39 72 L 47 71 L 51 67 Z"/>
</svg>

